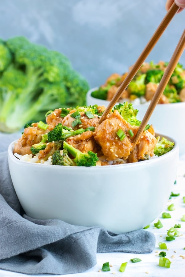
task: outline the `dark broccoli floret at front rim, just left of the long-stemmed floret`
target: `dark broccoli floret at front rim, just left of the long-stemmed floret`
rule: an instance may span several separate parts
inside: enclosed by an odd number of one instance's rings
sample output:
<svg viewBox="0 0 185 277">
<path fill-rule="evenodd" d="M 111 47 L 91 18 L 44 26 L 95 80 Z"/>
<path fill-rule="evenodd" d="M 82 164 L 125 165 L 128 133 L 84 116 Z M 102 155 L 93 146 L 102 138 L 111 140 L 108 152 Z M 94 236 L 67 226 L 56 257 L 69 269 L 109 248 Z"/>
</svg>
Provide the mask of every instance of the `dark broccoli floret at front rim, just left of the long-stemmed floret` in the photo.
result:
<svg viewBox="0 0 185 277">
<path fill-rule="evenodd" d="M 76 166 L 75 162 L 68 156 L 67 149 L 56 150 L 51 158 L 52 164 L 63 166 Z"/>
</svg>

